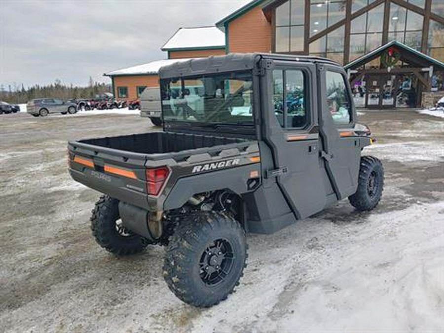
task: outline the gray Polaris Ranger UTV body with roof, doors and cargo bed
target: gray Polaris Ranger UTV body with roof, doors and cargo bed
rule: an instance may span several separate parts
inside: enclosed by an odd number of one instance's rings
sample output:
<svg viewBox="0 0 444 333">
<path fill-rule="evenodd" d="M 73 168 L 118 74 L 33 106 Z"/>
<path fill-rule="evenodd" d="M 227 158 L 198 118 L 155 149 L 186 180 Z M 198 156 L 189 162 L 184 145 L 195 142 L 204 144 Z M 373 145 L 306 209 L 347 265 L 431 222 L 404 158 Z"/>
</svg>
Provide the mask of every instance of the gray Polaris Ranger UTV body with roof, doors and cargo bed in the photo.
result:
<svg viewBox="0 0 444 333">
<path fill-rule="evenodd" d="M 307 125 L 282 127 L 273 111 L 273 70 L 304 73 Z M 241 202 L 238 220 L 253 233 L 273 233 L 356 192 L 361 150 L 370 133 L 356 123 L 343 68 L 323 58 L 229 54 L 163 67 L 160 79 L 202 74 L 253 74 L 253 126 L 179 126 L 163 131 L 70 141 L 74 180 L 119 200 L 129 230 L 154 239 L 149 221 L 161 220 L 199 193 L 228 190 Z M 333 122 L 326 100 L 326 72 L 347 82 L 351 121 Z M 147 170 L 166 167 L 157 195 L 148 194 Z M 148 223 L 147 223 L 148 221 Z"/>
</svg>

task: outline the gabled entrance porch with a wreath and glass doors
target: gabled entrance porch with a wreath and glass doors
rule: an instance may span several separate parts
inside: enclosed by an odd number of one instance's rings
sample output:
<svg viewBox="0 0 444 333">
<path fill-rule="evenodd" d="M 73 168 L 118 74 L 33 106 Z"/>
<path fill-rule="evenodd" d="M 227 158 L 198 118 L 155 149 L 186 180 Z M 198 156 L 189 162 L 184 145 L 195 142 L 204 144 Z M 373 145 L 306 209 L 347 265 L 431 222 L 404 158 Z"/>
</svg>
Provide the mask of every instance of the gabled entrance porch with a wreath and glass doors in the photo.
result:
<svg viewBox="0 0 444 333">
<path fill-rule="evenodd" d="M 358 108 L 418 108 L 424 93 L 444 96 L 444 63 L 398 41 L 344 67 Z"/>
</svg>

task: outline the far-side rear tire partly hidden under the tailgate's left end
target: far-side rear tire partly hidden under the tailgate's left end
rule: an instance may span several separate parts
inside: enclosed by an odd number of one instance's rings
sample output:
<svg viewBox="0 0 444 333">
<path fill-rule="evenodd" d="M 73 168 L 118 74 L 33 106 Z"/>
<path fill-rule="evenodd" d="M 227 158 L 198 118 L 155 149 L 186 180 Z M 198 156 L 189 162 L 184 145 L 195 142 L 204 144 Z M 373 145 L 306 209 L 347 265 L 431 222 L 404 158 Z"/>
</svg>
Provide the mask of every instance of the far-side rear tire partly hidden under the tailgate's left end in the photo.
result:
<svg viewBox="0 0 444 333">
<path fill-rule="evenodd" d="M 125 256 L 142 252 L 147 244 L 121 224 L 119 201 L 103 195 L 96 202 L 91 216 L 91 229 L 96 242 L 108 252 Z"/>
</svg>

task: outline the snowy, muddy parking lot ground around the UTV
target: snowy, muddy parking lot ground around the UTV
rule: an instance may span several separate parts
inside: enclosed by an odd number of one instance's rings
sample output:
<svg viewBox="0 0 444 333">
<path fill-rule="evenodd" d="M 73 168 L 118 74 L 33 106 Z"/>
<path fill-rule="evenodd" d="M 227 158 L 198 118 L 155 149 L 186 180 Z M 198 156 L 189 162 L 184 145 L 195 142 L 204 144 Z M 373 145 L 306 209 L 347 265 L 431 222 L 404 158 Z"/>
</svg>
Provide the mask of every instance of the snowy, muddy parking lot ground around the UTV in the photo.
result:
<svg viewBox="0 0 444 333">
<path fill-rule="evenodd" d="M 249 237 L 237 292 L 211 309 L 173 296 L 163 250 L 112 256 L 93 240 L 99 193 L 67 172 L 70 139 L 157 130 L 137 115 L 0 116 L 0 331 L 425 332 L 444 327 L 444 119 L 364 111 L 382 159 L 379 206 L 342 201 Z M 441 301 L 440 301 L 441 299 Z"/>
</svg>

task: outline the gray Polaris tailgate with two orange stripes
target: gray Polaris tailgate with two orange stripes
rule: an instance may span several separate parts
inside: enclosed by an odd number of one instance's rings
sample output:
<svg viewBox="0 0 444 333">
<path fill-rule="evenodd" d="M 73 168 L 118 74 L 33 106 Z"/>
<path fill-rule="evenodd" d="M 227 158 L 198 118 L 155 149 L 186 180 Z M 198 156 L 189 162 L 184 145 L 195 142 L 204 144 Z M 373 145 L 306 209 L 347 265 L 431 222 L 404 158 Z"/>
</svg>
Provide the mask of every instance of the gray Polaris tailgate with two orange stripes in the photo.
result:
<svg viewBox="0 0 444 333">
<path fill-rule="evenodd" d="M 73 179 L 113 198 L 148 209 L 146 156 L 70 141 L 69 171 Z"/>
</svg>

